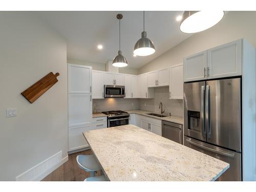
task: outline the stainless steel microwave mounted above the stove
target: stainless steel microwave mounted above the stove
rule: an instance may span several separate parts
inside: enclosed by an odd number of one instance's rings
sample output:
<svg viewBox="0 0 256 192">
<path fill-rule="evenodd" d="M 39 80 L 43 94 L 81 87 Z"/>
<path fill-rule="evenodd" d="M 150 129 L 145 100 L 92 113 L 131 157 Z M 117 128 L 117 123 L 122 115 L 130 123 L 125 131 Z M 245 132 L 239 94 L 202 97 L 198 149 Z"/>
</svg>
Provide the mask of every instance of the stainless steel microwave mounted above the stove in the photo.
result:
<svg viewBox="0 0 256 192">
<path fill-rule="evenodd" d="M 124 97 L 124 86 L 110 86 L 104 85 L 104 98 L 111 98 L 111 97 Z"/>
</svg>

